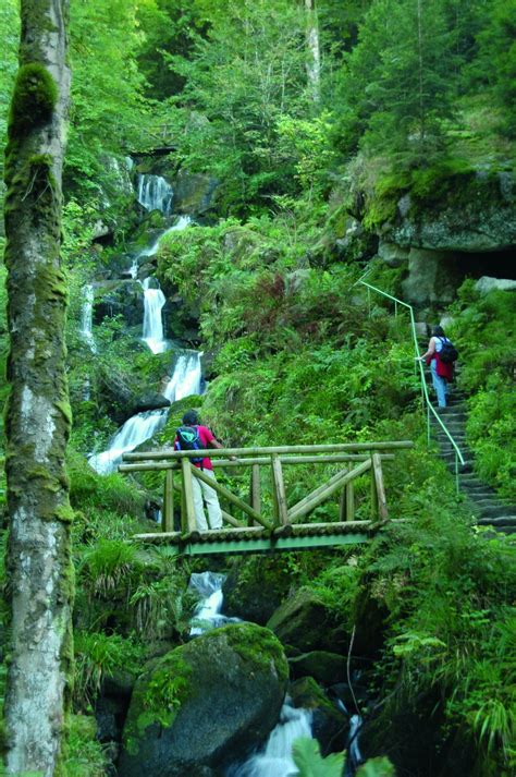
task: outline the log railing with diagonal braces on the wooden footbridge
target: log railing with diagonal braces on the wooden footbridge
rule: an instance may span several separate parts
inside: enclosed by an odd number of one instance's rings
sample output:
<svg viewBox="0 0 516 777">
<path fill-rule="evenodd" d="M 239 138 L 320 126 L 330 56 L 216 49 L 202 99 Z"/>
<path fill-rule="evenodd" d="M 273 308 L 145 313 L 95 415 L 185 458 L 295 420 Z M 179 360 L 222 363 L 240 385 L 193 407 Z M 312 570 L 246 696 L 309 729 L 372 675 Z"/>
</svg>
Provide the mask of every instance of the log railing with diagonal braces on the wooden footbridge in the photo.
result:
<svg viewBox="0 0 516 777">
<path fill-rule="evenodd" d="M 175 499 L 181 505 L 181 532 L 197 531 L 194 510 L 193 478 L 213 488 L 219 497 L 244 513 L 247 527 L 268 530 L 299 523 L 312 510 L 332 496 L 340 495 L 339 522 L 355 521 L 355 481 L 370 473 L 371 525 L 389 520 L 382 462 L 394 459 L 393 451 L 413 447 L 410 440 L 381 442 L 345 442 L 314 446 L 273 446 L 263 448 L 225 448 L 209 450 L 173 450 L 125 453 L 120 472 L 164 473 L 163 532 L 174 530 Z M 250 468 L 249 497 L 246 501 L 226 486 L 213 481 L 206 472 L 189 462 L 192 458 L 211 459 L 213 469 Z M 291 465 L 341 464 L 339 471 L 296 503 L 288 506 L 283 468 Z M 272 493 L 271 514 L 265 514 L 261 498 L 261 468 L 270 469 Z M 244 529 L 239 520 L 222 510 L 223 521 L 235 529 Z M 361 522 L 360 522 L 361 523 Z M 328 524 L 332 525 L 332 524 Z"/>
</svg>

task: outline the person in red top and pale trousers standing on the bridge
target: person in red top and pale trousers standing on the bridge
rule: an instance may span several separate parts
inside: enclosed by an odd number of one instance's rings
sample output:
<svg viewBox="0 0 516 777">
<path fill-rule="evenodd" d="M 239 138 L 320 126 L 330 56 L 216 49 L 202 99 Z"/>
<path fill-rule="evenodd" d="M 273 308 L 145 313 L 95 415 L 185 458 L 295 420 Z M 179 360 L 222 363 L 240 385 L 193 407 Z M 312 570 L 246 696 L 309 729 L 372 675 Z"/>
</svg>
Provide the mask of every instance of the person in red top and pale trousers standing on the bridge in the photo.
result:
<svg viewBox="0 0 516 777">
<path fill-rule="evenodd" d="M 214 438 L 211 429 L 199 424 L 199 416 L 195 410 L 187 410 L 183 415 L 183 426 L 180 426 L 175 433 L 174 449 L 202 450 L 206 448 L 223 448 L 223 446 Z M 216 479 L 211 459 L 208 457 L 194 457 L 191 462 L 194 466 L 202 470 L 205 475 L 208 475 L 213 481 Z M 222 529 L 222 512 L 217 491 L 198 477 L 192 478 L 192 487 L 197 529 L 200 532 L 206 532 L 208 529 Z M 209 526 L 206 521 L 202 500 L 206 502 L 208 510 Z"/>
</svg>

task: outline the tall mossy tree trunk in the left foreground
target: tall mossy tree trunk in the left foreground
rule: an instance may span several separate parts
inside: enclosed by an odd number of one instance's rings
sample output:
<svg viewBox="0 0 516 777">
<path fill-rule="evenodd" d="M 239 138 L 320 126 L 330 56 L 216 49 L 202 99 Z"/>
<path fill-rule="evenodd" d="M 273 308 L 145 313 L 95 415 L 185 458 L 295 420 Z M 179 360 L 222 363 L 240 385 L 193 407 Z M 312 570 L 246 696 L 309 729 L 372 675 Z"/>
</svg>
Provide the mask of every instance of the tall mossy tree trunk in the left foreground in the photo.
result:
<svg viewBox="0 0 516 777">
<path fill-rule="evenodd" d="M 22 0 L 20 69 L 9 117 L 8 774 L 59 773 L 72 661 L 72 513 L 64 468 L 71 415 L 60 259 L 67 12 L 69 0 Z"/>
</svg>

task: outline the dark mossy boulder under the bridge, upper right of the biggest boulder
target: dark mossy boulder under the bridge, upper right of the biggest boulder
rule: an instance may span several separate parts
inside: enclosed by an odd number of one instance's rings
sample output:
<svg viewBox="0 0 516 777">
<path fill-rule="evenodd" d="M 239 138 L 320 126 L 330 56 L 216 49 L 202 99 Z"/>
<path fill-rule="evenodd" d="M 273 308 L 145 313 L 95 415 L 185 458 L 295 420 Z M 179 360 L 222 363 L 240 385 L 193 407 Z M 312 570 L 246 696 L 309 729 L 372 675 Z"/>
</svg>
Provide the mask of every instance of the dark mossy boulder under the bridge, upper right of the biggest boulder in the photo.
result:
<svg viewBox="0 0 516 777">
<path fill-rule="evenodd" d="M 327 606 L 311 588 L 296 591 L 267 623 L 284 645 L 303 652 L 330 647 L 334 627 Z"/>
</svg>

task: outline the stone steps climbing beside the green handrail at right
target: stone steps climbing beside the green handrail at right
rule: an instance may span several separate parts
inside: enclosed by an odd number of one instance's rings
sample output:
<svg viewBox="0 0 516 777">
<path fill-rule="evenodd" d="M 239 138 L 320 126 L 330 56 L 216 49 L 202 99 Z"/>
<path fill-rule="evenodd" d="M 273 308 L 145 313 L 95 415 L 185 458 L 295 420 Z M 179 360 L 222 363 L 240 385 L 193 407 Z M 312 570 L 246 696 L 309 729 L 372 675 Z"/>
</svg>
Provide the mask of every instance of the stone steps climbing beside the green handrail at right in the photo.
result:
<svg viewBox="0 0 516 777">
<path fill-rule="evenodd" d="M 429 392 L 432 389 L 429 387 Z M 430 394 L 431 396 L 431 394 Z M 486 485 L 474 473 L 474 453 L 466 445 L 467 404 L 464 391 L 453 389 L 449 406 L 440 411 L 440 416 L 460 450 L 465 464 L 459 464 L 459 488 L 467 496 L 479 526 L 492 526 L 504 534 L 516 534 L 516 506 L 502 499 L 496 491 Z M 449 438 L 432 414 L 433 437 L 441 458 L 455 471 L 455 451 Z"/>
</svg>

